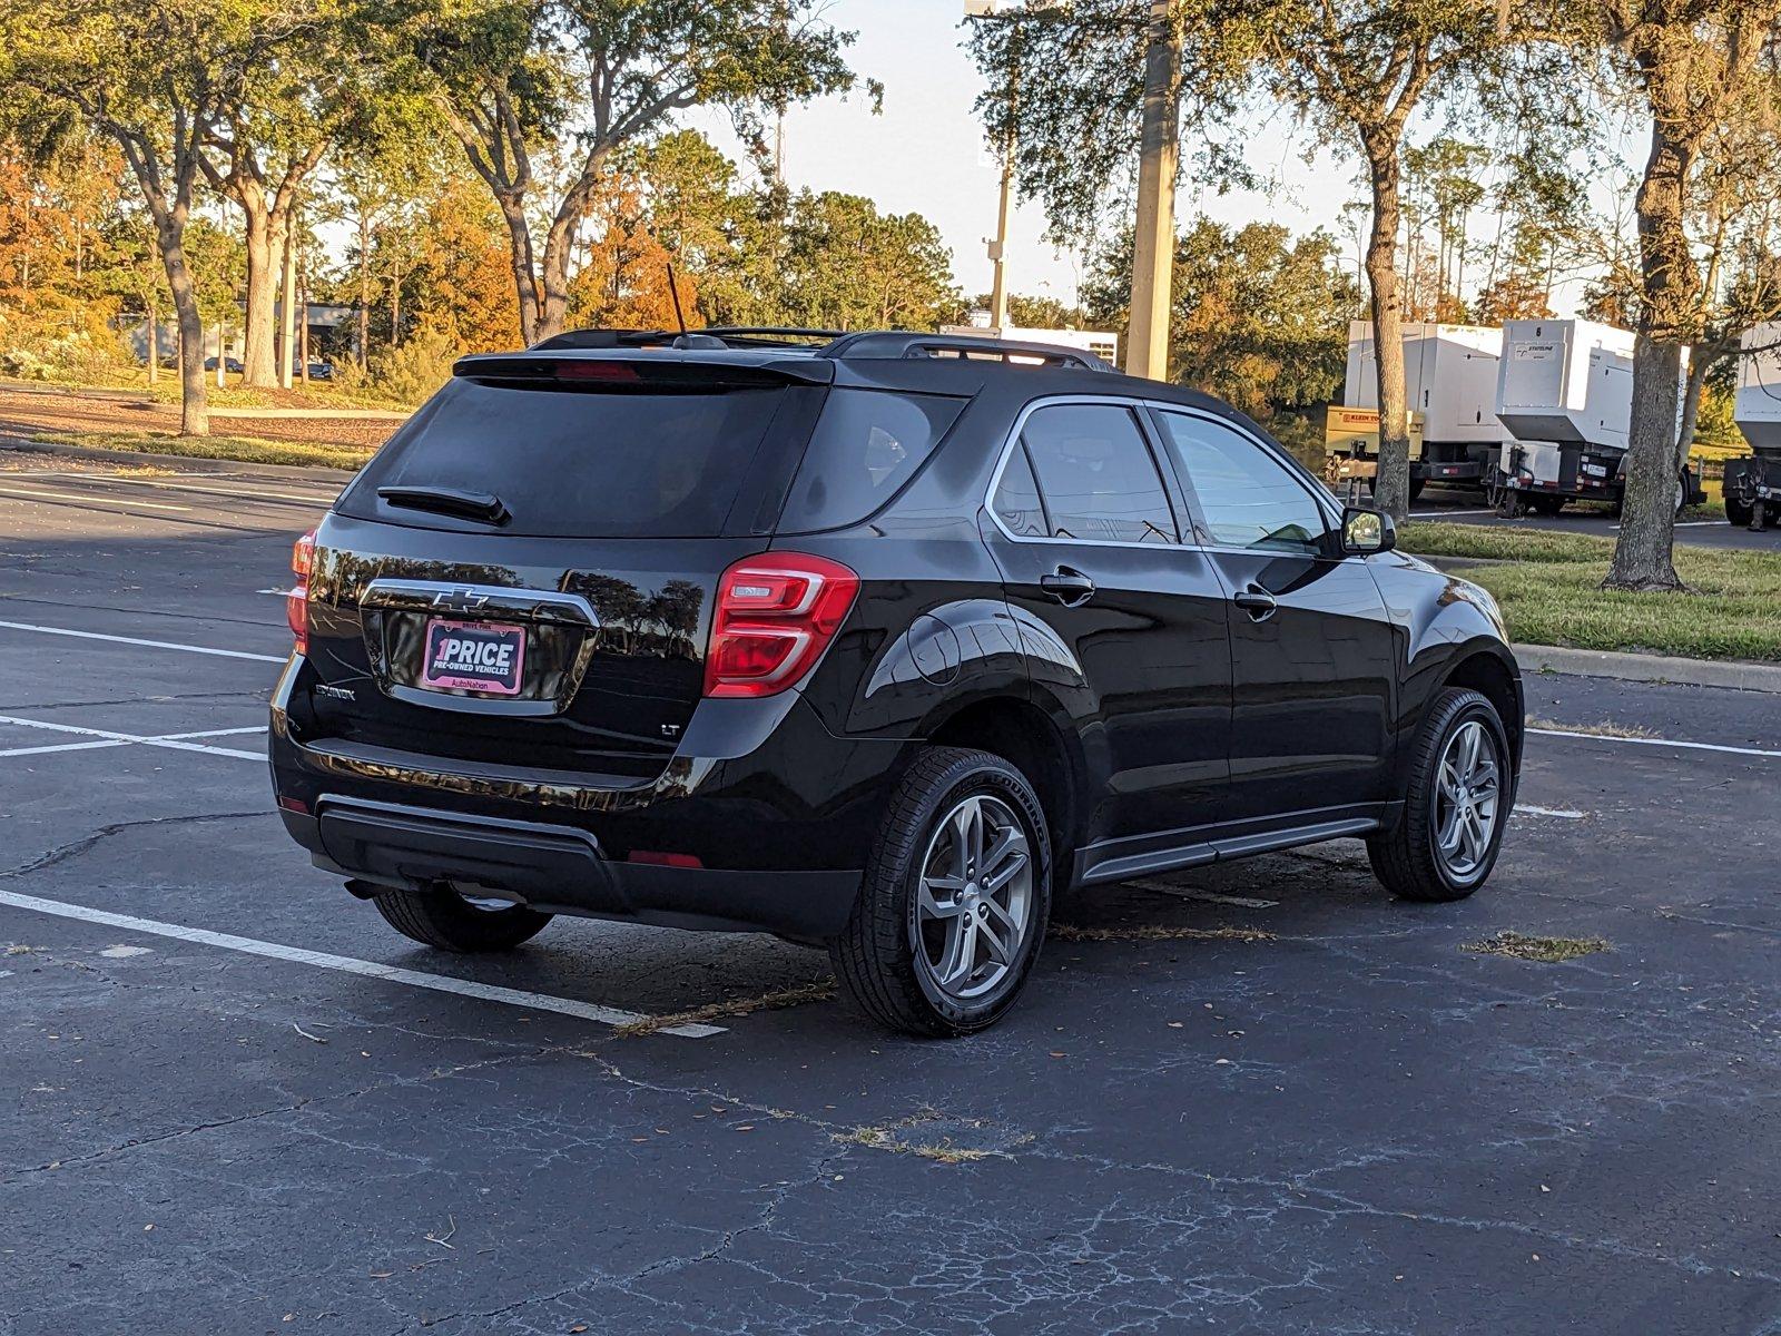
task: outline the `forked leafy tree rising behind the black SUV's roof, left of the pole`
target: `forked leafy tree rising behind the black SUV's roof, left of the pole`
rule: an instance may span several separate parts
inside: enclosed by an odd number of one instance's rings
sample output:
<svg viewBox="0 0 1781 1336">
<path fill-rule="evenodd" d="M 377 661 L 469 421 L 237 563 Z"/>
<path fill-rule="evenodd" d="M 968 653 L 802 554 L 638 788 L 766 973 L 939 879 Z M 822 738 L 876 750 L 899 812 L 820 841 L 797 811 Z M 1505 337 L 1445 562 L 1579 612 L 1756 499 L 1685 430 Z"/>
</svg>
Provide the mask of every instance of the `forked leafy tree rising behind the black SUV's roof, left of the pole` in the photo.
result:
<svg viewBox="0 0 1781 1336">
<path fill-rule="evenodd" d="M 524 0 L 461 18 L 415 12 L 417 55 L 508 226 L 527 344 L 563 330 L 577 230 L 618 150 L 716 105 L 764 151 L 762 110 L 853 86 L 851 34 L 817 11 L 817 0 Z M 536 160 L 550 137 L 565 146 L 556 180 Z"/>
</svg>

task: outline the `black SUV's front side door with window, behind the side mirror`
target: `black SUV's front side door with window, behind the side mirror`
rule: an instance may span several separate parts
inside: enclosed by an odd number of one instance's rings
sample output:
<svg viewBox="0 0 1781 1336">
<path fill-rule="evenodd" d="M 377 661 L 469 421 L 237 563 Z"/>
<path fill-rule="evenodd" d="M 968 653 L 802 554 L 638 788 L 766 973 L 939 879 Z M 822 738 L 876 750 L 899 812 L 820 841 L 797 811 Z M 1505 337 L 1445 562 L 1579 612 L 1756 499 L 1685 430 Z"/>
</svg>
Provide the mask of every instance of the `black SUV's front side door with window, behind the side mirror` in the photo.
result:
<svg viewBox="0 0 1781 1336">
<path fill-rule="evenodd" d="M 1339 554 L 1313 485 L 1261 438 L 1186 408 L 1152 415 L 1231 599 L 1225 818 L 1359 816 L 1389 796 L 1398 663 L 1366 559 Z"/>
</svg>

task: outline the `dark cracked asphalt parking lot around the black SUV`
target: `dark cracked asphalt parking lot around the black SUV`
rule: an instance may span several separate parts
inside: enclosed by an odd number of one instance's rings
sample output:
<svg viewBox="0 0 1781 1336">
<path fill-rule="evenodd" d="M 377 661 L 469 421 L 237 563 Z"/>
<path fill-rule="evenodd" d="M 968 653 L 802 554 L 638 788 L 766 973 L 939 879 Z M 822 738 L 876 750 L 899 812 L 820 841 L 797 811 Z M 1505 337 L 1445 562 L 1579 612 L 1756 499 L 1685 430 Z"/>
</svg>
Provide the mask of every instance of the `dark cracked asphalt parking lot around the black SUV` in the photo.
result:
<svg viewBox="0 0 1781 1336">
<path fill-rule="evenodd" d="M 0 456 L 0 1336 L 1781 1332 L 1781 697 L 1530 679 L 1473 900 L 1117 887 L 921 1044 L 773 939 L 463 960 L 313 871 L 264 590 L 328 497 Z"/>
</svg>

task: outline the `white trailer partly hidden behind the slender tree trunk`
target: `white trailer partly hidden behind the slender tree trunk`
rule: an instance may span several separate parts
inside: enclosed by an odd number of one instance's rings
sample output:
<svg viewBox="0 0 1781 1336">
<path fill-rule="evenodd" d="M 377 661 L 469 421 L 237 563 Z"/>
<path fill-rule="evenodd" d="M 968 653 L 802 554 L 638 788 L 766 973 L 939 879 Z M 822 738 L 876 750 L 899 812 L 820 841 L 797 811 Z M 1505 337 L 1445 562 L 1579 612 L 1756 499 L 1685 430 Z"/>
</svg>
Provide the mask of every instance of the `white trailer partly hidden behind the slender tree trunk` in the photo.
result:
<svg viewBox="0 0 1781 1336">
<path fill-rule="evenodd" d="M 1509 438 L 1492 411 L 1503 331 L 1478 324 L 1412 321 L 1403 326 L 1403 401 L 1419 426 L 1411 493 L 1425 483 L 1482 486 Z M 1348 322 L 1345 408 L 1378 408 L 1378 354 L 1371 321 Z M 1329 442 L 1339 447 L 1338 442 Z M 1371 456 L 1377 458 L 1377 451 Z"/>
</svg>

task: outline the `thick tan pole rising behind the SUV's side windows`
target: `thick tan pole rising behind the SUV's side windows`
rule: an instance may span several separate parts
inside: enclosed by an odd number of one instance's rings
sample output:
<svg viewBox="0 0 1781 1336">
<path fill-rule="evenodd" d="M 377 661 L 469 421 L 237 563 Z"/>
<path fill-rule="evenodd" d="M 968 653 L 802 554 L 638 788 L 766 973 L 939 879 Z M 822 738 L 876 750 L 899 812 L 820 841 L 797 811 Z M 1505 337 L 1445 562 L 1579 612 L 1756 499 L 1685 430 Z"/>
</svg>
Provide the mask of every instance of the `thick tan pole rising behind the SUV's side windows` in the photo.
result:
<svg viewBox="0 0 1781 1336">
<path fill-rule="evenodd" d="M 1168 379 L 1168 314 L 1175 267 L 1175 171 L 1181 162 L 1181 39 L 1170 0 L 1151 0 L 1143 59 L 1143 139 L 1138 226 L 1131 255 L 1131 331 L 1126 374 Z"/>
</svg>

